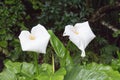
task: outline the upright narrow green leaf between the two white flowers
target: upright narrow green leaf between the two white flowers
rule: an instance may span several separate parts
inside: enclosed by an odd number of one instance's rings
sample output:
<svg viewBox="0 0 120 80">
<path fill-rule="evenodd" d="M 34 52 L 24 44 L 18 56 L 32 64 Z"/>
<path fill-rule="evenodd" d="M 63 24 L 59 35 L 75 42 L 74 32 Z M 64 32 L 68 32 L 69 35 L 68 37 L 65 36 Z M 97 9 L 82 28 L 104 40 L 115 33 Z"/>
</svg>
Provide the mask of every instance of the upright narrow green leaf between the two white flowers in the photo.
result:
<svg viewBox="0 0 120 80">
<path fill-rule="evenodd" d="M 70 65 L 73 64 L 73 61 L 70 57 L 69 51 L 65 48 L 63 43 L 55 36 L 52 30 L 48 30 L 48 32 L 51 35 L 50 43 L 57 56 L 60 58 L 60 65 L 62 67 L 70 67 Z"/>
</svg>

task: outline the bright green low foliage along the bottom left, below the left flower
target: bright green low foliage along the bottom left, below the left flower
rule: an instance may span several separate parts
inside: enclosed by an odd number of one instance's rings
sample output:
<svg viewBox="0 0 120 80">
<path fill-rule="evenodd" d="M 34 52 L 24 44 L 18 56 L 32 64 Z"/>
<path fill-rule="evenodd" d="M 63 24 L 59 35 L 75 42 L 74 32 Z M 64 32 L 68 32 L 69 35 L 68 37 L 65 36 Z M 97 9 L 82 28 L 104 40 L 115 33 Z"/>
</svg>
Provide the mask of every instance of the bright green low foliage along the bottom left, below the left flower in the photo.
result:
<svg viewBox="0 0 120 80">
<path fill-rule="evenodd" d="M 63 80 L 66 70 L 60 68 L 55 73 L 49 64 L 39 65 L 40 74 L 32 63 L 5 61 L 5 69 L 0 73 L 0 80 Z"/>
</svg>

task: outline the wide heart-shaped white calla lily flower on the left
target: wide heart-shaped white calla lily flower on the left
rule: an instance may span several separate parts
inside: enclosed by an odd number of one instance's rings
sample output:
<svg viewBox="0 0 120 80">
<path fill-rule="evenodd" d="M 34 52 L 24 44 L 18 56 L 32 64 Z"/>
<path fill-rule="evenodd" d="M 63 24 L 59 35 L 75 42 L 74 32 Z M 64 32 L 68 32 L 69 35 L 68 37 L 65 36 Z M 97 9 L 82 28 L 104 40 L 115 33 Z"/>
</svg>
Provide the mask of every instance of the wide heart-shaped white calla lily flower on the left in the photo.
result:
<svg viewBox="0 0 120 80">
<path fill-rule="evenodd" d="M 46 53 L 50 35 L 44 26 L 38 24 L 32 28 L 31 33 L 23 30 L 19 35 L 19 39 L 23 51 Z"/>
</svg>

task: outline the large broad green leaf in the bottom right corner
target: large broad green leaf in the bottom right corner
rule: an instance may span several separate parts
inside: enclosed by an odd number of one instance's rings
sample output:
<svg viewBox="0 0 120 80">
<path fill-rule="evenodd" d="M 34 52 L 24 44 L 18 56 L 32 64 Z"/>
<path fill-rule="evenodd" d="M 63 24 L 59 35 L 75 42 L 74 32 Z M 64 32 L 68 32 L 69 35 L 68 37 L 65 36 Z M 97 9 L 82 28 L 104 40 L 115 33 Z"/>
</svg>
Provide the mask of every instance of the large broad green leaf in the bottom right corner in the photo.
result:
<svg viewBox="0 0 120 80">
<path fill-rule="evenodd" d="M 65 76 L 65 80 L 119 80 L 120 74 L 110 66 L 91 63 L 74 66 Z"/>
</svg>

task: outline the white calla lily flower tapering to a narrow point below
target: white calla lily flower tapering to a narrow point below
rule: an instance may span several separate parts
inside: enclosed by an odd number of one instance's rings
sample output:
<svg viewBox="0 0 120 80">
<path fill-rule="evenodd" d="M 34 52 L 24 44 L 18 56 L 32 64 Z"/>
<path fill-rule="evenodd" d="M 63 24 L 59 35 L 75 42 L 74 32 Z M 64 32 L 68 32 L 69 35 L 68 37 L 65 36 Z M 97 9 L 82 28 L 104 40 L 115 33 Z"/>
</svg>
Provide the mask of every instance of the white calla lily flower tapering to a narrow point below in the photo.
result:
<svg viewBox="0 0 120 80">
<path fill-rule="evenodd" d="M 69 36 L 69 39 L 82 51 L 81 57 L 85 57 L 85 48 L 95 38 L 88 22 L 65 26 L 63 36 Z"/>
</svg>

